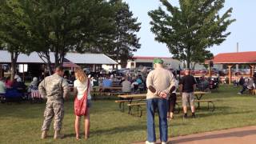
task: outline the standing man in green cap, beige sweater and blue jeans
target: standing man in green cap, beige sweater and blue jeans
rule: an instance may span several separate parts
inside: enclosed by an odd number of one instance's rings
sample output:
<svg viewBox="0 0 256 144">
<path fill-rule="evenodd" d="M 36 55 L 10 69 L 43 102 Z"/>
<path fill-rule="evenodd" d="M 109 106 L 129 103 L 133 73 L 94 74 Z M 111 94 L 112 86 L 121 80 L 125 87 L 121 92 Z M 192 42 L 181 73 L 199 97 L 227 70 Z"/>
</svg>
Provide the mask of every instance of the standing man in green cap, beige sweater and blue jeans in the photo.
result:
<svg viewBox="0 0 256 144">
<path fill-rule="evenodd" d="M 146 78 L 148 88 L 146 94 L 146 113 L 147 113 L 147 141 L 146 144 L 155 143 L 154 113 L 158 109 L 160 140 L 166 144 L 168 137 L 167 125 L 167 98 L 170 92 L 175 89 L 174 75 L 170 70 L 163 68 L 163 60 L 154 59 L 155 70 L 150 71 Z"/>
</svg>

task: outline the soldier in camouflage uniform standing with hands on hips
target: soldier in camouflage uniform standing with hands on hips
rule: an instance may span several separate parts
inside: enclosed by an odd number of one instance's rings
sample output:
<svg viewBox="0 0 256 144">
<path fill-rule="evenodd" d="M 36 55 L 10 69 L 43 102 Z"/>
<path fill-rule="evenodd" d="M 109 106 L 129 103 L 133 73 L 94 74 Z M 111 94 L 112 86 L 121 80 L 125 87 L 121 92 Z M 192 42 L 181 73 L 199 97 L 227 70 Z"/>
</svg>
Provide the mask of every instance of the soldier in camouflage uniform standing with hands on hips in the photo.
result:
<svg viewBox="0 0 256 144">
<path fill-rule="evenodd" d="M 54 118 L 54 139 L 63 138 L 60 134 L 62 129 L 62 119 L 64 117 L 64 98 L 66 98 L 69 87 L 63 77 L 62 67 L 57 67 L 55 73 L 46 77 L 38 86 L 40 94 L 47 98 L 46 110 L 44 112 L 44 122 L 42 124 L 42 139 L 47 137 L 51 120 Z"/>
</svg>

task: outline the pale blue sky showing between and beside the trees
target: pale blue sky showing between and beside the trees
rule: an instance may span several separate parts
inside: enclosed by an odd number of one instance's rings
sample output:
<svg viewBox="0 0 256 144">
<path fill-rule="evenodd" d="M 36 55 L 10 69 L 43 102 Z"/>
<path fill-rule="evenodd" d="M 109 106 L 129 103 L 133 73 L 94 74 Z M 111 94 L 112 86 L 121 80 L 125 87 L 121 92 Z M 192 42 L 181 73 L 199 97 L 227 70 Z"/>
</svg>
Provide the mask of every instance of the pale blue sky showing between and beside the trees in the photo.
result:
<svg viewBox="0 0 256 144">
<path fill-rule="evenodd" d="M 165 44 L 154 41 L 154 34 L 150 32 L 150 17 L 147 12 L 155 10 L 160 6 L 159 0 L 125 0 L 138 17 L 138 22 L 142 22 L 142 29 L 138 33 L 141 38 L 142 48 L 134 53 L 135 56 L 171 56 Z M 178 0 L 170 1 L 178 6 Z M 210 48 L 212 53 L 235 52 L 236 43 L 239 42 L 239 51 L 256 50 L 256 1 L 255 0 L 226 0 L 224 10 L 233 7 L 232 18 L 234 22 L 228 29 L 230 36 L 220 46 Z"/>
</svg>

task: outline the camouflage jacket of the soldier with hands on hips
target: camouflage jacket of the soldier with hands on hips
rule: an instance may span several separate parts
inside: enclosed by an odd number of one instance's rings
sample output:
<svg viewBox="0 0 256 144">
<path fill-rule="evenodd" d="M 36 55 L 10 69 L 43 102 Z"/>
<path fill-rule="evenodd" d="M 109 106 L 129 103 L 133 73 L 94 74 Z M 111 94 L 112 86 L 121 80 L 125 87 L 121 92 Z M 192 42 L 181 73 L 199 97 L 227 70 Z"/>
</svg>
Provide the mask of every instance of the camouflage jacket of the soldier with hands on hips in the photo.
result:
<svg viewBox="0 0 256 144">
<path fill-rule="evenodd" d="M 64 78 L 53 74 L 42 80 L 38 90 L 44 98 L 47 98 L 47 102 L 63 102 L 69 92 L 69 86 Z"/>
</svg>

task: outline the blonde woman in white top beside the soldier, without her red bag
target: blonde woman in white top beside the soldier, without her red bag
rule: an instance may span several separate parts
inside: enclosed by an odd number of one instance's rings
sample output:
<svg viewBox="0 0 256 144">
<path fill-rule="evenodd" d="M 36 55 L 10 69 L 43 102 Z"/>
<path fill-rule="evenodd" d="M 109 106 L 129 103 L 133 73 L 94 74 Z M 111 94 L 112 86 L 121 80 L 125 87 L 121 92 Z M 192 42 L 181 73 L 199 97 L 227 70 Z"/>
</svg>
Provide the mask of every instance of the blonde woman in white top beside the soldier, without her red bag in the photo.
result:
<svg viewBox="0 0 256 144">
<path fill-rule="evenodd" d="M 88 78 L 84 71 L 82 69 L 77 69 L 74 72 L 76 80 L 74 81 L 74 94 L 78 97 L 78 100 L 82 99 L 84 93 L 87 90 L 87 113 L 84 116 L 85 118 L 85 138 L 89 138 L 90 134 L 90 106 L 91 106 L 91 96 L 90 96 L 90 90 L 91 85 L 88 86 Z M 90 81 L 89 81 L 90 82 Z M 79 126 L 80 126 L 80 117 L 76 115 L 74 127 L 75 127 L 75 133 L 76 138 L 79 139 Z"/>
</svg>

